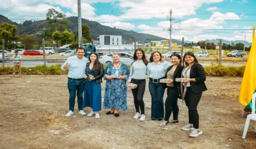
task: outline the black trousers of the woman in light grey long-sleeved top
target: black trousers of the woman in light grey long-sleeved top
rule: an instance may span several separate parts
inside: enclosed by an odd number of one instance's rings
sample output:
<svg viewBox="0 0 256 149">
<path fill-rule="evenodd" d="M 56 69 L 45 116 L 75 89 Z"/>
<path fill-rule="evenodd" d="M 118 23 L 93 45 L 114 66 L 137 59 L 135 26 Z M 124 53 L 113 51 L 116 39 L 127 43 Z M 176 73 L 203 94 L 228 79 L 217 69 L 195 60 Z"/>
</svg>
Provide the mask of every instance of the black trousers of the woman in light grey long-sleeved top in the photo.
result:
<svg viewBox="0 0 256 149">
<path fill-rule="evenodd" d="M 137 84 L 137 87 L 135 89 L 132 89 L 136 112 L 139 113 L 140 108 L 141 114 L 145 114 L 143 96 L 146 88 L 146 79 L 132 79 L 131 83 Z"/>
</svg>

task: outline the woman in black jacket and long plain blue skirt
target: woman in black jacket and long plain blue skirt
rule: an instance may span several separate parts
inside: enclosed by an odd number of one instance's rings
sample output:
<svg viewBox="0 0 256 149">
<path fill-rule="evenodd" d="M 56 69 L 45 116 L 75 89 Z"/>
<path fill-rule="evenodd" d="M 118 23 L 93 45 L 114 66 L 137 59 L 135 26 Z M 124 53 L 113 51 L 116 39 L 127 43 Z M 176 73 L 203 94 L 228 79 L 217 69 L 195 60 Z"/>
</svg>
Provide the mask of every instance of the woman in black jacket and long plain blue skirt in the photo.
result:
<svg viewBox="0 0 256 149">
<path fill-rule="evenodd" d="M 92 112 L 87 116 L 95 115 L 95 118 L 100 118 L 101 83 L 104 73 L 103 64 L 100 63 L 96 52 L 92 52 L 88 59 L 89 62 L 86 64 L 85 74 L 93 77 L 86 78 L 84 84 L 83 108 L 91 107 Z"/>
</svg>

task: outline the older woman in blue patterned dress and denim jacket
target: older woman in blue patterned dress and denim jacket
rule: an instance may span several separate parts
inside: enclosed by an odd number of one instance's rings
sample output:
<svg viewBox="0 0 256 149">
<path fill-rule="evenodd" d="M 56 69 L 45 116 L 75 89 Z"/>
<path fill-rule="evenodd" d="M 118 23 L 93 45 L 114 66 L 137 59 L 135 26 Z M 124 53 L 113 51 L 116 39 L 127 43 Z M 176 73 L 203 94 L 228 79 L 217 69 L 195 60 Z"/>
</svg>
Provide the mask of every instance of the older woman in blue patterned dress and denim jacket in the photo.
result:
<svg viewBox="0 0 256 149">
<path fill-rule="evenodd" d="M 127 87 L 126 81 L 129 77 L 130 70 L 128 66 L 120 62 L 120 54 L 112 54 L 112 63 L 107 64 L 104 70 L 104 79 L 106 81 L 103 108 L 111 109 L 106 114 L 114 114 L 119 117 L 118 111 L 123 109 L 127 111 Z M 112 79 L 111 75 L 119 75 L 118 78 Z"/>
</svg>

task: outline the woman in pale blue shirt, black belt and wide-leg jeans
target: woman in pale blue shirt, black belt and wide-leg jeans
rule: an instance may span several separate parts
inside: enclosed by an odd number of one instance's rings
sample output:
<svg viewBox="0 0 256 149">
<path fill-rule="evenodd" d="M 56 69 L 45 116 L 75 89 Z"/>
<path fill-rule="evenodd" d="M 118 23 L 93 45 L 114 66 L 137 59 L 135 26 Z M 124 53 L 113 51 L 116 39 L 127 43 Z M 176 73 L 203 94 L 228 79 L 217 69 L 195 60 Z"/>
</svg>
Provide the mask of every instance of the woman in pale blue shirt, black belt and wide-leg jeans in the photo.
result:
<svg viewBox="0 0 256 149">
<path fill-rule="evenodd" d="M 151 119 L 162 120 L 164 116 L 163 107 L 163 95 L 164 90 L 163 83 L 160 83 L 160 79 L 165 76 L 165 71 L 172 64 L 168 62 L 161 62 L 162 55 L 158 51 L 151 53 L 149 63 L 147 65 L 147 74 L 149 76 L 149 92 L 151 94 Z"/>
</svg>

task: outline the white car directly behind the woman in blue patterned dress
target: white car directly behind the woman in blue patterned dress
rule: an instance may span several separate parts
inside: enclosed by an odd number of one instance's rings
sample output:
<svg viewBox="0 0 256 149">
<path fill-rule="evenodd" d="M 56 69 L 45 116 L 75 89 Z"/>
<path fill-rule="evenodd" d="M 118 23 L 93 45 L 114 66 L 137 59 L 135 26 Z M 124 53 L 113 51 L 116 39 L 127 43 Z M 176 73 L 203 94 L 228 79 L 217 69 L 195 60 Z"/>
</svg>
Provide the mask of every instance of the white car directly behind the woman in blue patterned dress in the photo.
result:
<svg viewBox="0 0 256 149">
<path fill-rule="evenodd" d="M 126 52 L 118 52 L 121 55 L 121 62 L 125 63 L 125 64 L 131 64 L 131 62 L 133 61 L 133 55 L 130 53 L 126 53 Z M 108 64 L 112 62 L 112 54 L 107 54 L 107 55 L 103 55 L 100 56 L 99 61 L 102 64 Z"/>
</svg>

